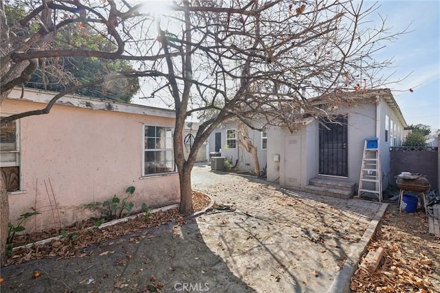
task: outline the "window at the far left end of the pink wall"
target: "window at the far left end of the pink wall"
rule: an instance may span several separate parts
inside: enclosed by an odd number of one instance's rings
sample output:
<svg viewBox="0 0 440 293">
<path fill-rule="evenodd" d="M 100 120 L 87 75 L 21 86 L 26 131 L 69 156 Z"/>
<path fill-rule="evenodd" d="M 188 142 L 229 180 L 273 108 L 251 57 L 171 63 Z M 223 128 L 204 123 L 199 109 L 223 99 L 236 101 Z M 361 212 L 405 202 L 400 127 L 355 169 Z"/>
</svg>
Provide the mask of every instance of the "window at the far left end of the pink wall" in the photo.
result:
<svg viewBox="0 0 440 293">
<path fill-rule="evenodd" d="M 6 191 L 20 190 L 19 121 L 0 124 L 0 168 Z"/>
</svg>

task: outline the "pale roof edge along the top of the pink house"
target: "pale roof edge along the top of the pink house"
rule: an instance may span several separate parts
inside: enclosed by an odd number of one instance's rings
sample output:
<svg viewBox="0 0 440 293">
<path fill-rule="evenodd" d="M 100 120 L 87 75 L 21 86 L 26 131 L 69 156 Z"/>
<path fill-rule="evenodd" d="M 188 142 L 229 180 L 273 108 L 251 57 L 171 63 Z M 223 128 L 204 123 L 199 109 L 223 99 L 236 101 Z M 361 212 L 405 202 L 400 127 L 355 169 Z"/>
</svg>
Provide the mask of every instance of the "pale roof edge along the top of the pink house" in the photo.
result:
<svg viewBox="0 0 440 293">
<path fill-rule="evenodd" d="M 47 104 L 58 94 L 56 91 L 45 91 L 43 89 L 32 89 L 25 87 L 23 98 L 21 97 L 21 88 L 15 87 L 8 95 L 9 100 L 25 100 L 28 102 L 41 102 Z M 102 100 L 100 98 L 91 98 L 67 94 L 55 102 L 55 105 L 78 107 L 91 110 L 115 111 L 121 113 L 132 113 L 139 115 L 159 116 L 164 118 L 175 118 L 175 110 L 150 107 L 144 105 L 130 104 L 128 102 L 119 102 L 115 100 Z"/>
</svg>

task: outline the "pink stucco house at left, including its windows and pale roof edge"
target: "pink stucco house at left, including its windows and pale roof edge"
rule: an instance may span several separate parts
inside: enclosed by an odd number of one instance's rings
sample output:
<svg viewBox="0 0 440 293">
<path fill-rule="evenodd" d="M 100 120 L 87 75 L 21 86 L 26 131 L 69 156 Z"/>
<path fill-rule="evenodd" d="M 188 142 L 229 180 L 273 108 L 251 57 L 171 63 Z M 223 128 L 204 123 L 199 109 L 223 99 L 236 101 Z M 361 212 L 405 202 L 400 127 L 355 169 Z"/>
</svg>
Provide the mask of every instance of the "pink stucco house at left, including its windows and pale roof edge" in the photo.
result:
<svg viewBox="0 0 440 293">
<path fill-rule="evenodd" d="M 1 116 L 42 109 L 56 93 L 14 89 Z M 28 231 L 61 228 L 100 217 L 102 202 L 135 187 L 142 203 L 179 202 L 171 110 L 64 96 L 50 113 L 2 125 L 1 175 L 9 190 L 10 221 L 38 210 Z"/>
</svg>

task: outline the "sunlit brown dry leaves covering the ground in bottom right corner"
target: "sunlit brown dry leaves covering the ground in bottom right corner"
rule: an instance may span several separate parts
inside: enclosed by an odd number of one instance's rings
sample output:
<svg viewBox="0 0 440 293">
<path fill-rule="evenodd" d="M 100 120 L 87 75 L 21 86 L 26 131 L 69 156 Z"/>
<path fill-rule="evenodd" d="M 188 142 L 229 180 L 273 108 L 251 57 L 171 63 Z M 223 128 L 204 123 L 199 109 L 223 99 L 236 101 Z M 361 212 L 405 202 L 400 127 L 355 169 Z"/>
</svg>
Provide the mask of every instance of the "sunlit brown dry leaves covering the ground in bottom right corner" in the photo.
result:
<svg viewBox="0 0 440 293">
<path fill-rule="evenodd" d="M 358 268 L 351 290 L 440 292 L 440 241 L 428 234 L 423 211 L 399 214 L 398 208 L 391 208 L 386 212 L 368 250 L 380 247 L 384 257 L 377 270 L 370 273 Z"/>
</svg>

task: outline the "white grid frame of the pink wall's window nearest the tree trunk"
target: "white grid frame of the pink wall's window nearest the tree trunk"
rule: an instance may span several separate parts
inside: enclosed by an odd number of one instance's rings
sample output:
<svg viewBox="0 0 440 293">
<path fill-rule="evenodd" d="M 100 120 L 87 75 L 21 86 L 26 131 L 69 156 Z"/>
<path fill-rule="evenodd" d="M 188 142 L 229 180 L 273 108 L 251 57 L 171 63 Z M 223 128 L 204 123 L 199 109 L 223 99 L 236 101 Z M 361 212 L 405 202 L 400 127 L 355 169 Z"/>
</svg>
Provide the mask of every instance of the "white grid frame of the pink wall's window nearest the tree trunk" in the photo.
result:
<svg viewBox="0 0 440 293">
<path fill-rule="evenodd" d="M 162 127 L 165 129 L 165 133 L 168 131 L 168 129 L 170 129 L 171 131 L 171 137 L 167 138 L 166 134 L 164 138 L 164 148 L 160 148 L 157 149 L 157 144 L 155 145 L 155 149 L 148 149 L 148 138 L 160 138 L 158 136 L 151 136 L 148 137 L 146 135 L 146 127 L 154 127 L 155 128 L 155 135 L 157 135 L 157 127 Z M 175 174 L 177 173 L 177 168 L 176 168 L 176 164 L 175 164 L 175 157 L 174 157 L 174 142 L 173 142 L 173 137 L 174 137 L 174 133 L 175 133 L 175 127 L 168 127 L 168 126 L 162 126 L 162 125 L 157 125 L 157 124 L 142 124 L 142 171 L 141 171 L 141 175 L 142 177 L 151 177 L 151 176 L 157 176 L 157 175 L 168 175 L 168 174 Z M 168 147 L 166 141 L 170 140 L 170 144 L 171 146 Z M 166 169 L 166 163 L 168 162 L 168 160 L 166 160 L 166 152 L 171 152 L 171 162 L 173 163 L 173 171 L 164 171 L 164 172 L 155 172 L 155 173 L 146 173 L 146 153 L 147 152 L 164 152 L 165 155 L 165 160 L 164 161 L 155 161 L 155 162 L 164 162 L 165 166 L 161 167 Z"/>
</svg>

